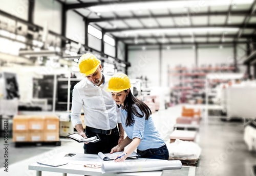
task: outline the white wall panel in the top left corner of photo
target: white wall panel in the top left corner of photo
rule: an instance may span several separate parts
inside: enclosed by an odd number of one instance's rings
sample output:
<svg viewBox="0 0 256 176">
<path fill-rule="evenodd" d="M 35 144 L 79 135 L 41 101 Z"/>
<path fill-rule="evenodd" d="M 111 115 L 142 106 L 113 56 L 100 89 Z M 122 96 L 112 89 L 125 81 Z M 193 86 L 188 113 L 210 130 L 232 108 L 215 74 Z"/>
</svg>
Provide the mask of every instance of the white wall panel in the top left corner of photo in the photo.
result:
<svg viewBox="0 0 256 176">
<path fill-rule="evenodd" d="M 16 17 L 28 20 L 28 0 L 0 0 L 0 9 Z"/>
</svg>

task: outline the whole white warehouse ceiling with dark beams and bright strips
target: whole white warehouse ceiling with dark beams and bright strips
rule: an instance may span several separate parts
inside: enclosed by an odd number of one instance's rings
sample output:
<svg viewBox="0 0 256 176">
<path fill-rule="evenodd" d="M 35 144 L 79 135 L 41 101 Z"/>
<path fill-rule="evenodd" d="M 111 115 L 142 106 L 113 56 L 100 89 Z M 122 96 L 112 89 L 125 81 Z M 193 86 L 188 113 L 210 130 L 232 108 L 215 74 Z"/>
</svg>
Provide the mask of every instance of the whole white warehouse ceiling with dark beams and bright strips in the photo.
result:
<svg viewBox="0 0 256 176">
<path fill-rule="evenodd" d="M 245 43 L 255 35 L 256 0 L 58 0 L 128 45 Z"/>
</svg>

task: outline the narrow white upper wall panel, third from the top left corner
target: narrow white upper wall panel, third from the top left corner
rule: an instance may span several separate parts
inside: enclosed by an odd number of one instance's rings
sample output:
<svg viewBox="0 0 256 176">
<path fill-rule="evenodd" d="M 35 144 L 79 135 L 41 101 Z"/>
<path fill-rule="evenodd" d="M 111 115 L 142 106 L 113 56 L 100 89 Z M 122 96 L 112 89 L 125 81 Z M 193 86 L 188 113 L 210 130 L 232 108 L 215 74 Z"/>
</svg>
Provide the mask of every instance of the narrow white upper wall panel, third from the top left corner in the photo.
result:
<svg viewBox="0 0 256 176">
<path fill-rule="evenodd" d="M 84 44 L 85 24 L 83 18 L 72 10 L 67 12 L 66 37 Z"/>
</svg>

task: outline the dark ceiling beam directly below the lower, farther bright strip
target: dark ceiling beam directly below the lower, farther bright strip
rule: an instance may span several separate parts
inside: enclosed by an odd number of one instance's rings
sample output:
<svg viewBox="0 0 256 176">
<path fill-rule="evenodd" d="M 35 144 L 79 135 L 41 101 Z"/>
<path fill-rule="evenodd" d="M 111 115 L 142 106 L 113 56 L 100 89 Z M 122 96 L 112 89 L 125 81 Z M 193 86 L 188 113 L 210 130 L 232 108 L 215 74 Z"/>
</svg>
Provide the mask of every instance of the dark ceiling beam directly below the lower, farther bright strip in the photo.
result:
<svg viewBox="0 0 256 176">
<path fill-rule="evenodd" d="M 212 35 L 195 35 L 194 37 L 195 38 L 200 38 L 200 37 L 222 37 L 222 34 L 221 35 L 216 35 L 216 34 L 212 34 Z M 251 34 L 243 34 L 241 36 L 241 38 L 250 38 L 252 35 Z M 191 35 L 183 35 L 181 36 L 182 38 L 190 38 Z M 225 38 L 234 38 L 236 37 L 236 34 L 227 34 L 225 35 Z M 116 37 L 118 38 L 119 40 L 134 40 L 135 37 Z M 145 37 L 145 36 L 138 36 L 137 39 L 160 39 L 162 38 L 162 36 L 148 36 L 148 37 Z M 177 35 L 165 35 L 164 38 L 180 38 L 180 36 L 177 36 Z"/>
</svg>

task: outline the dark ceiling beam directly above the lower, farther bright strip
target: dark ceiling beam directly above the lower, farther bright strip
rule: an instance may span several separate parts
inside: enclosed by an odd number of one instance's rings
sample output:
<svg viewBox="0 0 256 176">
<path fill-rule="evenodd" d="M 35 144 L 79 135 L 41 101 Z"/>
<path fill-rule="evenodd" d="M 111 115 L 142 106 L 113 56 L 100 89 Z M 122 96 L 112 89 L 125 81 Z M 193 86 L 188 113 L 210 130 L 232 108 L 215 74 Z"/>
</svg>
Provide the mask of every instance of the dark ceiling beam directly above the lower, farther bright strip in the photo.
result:
<svg viewBox="0 0 256 176">
<path fill-rule="evenodd" d="M 193 29 L 197 29 L 197 28 L 208 28 L 208 27 L 214 27 L 214 28 L 225 28 L 225 25 L 197 25 L 197 26 L 193 26 Z M 236 24 L 230 24 L 228 25 L 228 28 L 242 28 L 242 25 L 236 25 Z M 135 30 L 159 30 L 159 29 L 187 29 L 187 28 L 191 28 L 190 26 L 178 26 L 178 27 L 174 27 L 174 26 L 169 26 L 169 27 L 161 27 L 161 28 L 133 28 L 133 29 L 127 29 L 127 28 L 118 28 L 118 29 L 106 29 L 106 33 L 108 32 L 121 32 L 121 31 L 135 31 Z M 255 24 L 248 24 L 246 26 L 246 29 L 255 29 Z"/>
</svg>

